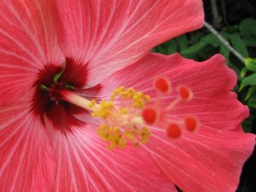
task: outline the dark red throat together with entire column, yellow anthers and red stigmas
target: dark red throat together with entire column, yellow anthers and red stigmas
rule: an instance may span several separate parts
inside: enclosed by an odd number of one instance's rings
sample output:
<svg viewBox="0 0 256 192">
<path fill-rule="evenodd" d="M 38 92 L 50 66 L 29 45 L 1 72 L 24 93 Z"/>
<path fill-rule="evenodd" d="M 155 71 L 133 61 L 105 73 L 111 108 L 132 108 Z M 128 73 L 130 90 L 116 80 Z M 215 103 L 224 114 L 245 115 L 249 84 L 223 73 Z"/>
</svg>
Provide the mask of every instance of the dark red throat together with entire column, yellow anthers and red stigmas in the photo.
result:
<svg viewBox="0 0 256 192">
<path fill-rule="evenodd" d="M 98 118 L 100 121 L 96 122 L 101 123 L 97 133 L 108 143 L 109 149 L 124 148 L 127 143 L 134 146 L 147 143 L 152 128 L 165 130 L 166 136 L 172 139 L 182 137 L 184 131 L 198 129 L 198 120 L 193 115 L 182 119 L 168 116 L 178 103 L 189 102 L 193 98 L 189 87 L 179 85 L 176 98 L 170 102 L 167 96 L 172 92 L 172 84 L 168 79 L 158 77 L 154 80 L 155 103 L 149 103 L 149 96 L 143 92 L 123 86 L 113 90 L 108 101 L 96 103 L 83 93 L 87 68 L 82 66 L 67 60 L 64 67 L 51 66 L 40 73 L 33 109 L 41 116 L 44 125 L 50 122 L 54 129 L 66 134 L 67 131 L 72 132 L 74 127 L 84 125 L 84 119 Z M 97 85 L 85 92 L 99 90 L 100 85 Z M 169 103 L 166 104 L 166 101 Z M 164 106 L 162 102 L 165 102 Z M 81 114 L 85 116 L 81 117 Z"/>
</svg>

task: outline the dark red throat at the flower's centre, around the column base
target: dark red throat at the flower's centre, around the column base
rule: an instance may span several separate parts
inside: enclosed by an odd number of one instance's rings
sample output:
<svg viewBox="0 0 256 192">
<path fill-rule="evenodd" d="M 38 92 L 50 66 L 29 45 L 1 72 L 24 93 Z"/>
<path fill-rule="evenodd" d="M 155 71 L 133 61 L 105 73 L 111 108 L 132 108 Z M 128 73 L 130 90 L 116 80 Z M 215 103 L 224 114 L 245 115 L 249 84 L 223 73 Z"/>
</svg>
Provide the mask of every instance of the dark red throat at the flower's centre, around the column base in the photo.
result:
<svg viewBox="0 0 256 192">
<path fill-rule="evenodd" d="M 84 89 L 87 84 L 88 67 L 85 64 L 66 58 L 66 62 L 59 67 L 49 64 L 38 74 L 37 90 L 33 96 L 32 111 L 39 115 L 42 123 L 47 126 L 50 122 L 55 130 L 64 134 L 72 132 L 73 127 L 82 127 L 90 113 L 71 103 L 61 100 L 57 91 L 66 89 L 76 94 L 92 98 L 101 90 L 98 84 L 90 89 Z"/>
</svg>

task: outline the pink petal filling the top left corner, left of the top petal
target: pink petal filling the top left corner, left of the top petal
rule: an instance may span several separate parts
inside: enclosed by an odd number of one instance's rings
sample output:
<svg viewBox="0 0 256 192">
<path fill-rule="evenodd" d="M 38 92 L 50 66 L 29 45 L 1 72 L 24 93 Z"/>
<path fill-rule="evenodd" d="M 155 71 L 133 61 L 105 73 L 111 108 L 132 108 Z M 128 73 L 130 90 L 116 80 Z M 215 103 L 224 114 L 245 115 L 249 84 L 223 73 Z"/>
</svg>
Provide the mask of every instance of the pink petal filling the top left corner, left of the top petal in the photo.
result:
<svg viewBox="0 0 256 192">
<path fill-rule="evenodd" d="M 22 96 L 46 64 L 61 64 L 51 18 L 54 15 L 52 1 L 1 1 L 1 104 Z"/>
</svg>

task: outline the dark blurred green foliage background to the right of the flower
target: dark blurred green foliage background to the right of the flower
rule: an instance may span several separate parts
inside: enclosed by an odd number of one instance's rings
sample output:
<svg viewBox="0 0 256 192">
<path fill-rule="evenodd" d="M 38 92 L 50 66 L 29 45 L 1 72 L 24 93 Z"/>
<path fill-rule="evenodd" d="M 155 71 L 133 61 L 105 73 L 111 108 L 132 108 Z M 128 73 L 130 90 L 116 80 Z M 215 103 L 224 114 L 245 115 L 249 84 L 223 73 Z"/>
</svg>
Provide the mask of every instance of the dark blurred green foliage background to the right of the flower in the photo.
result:
<svg viewBox="0 0 256 192">
<path fill-rule="evenodd" d="M 238 99 L 250 108 L 250 116 L 243 122 L 246 132 L 256 134 L 256 4 L 255 0 L 204 0 L 205 20 L 241 54 L 234 55 L 207 27 L 189 32 L 155 47 L 152 52 L 205 61 L 214 54 L 222 54 L 226 64 L 236 71 L 235 91 Z M 247 160 L 236 192 L 256 192 L 256 154 Z"/>
</svg>

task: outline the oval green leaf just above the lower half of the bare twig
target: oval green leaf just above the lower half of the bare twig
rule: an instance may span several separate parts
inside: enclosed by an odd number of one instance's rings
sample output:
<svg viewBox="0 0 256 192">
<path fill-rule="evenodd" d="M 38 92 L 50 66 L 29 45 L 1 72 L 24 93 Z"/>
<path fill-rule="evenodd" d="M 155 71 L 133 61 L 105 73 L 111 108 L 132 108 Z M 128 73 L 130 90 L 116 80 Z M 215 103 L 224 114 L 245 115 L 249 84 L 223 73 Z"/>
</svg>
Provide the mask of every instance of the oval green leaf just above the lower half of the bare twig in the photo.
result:
<svg viewBox="0 0 256 192">
<path fill-rule="evenodd" d="M 244 57 L 249 57 L 247 46 L 238 33 L 230 34 L 229 39 L 233 47 Z"/>
</svg>

